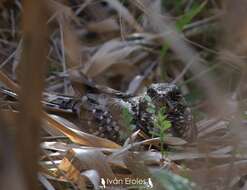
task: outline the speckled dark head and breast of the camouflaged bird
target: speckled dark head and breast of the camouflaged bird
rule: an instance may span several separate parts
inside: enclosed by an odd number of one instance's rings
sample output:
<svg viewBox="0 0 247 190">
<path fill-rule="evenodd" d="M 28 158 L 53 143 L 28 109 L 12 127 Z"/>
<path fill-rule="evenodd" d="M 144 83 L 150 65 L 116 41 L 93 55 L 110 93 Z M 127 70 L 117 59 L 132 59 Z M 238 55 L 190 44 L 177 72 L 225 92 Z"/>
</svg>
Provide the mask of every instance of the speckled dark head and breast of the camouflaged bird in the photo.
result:
<svg viewBox="0 0 247 190">
<path fill-rule="evenodd" d="M 167 115 L 167 119 L 172 124 L 169 131 L 173 136 L 181 137 L 187 141 L 196 139 L 197 131 L 193 123 L 192 113 L 186 106 L 186 102 L 176 85 L 168 83 L 152 84 L 148 87 L 145 95 L 151 97 L 156 113 L 159 109 L 165 108 L 164 114 Z M 146 104 L 145 98 L 140 98 L 137 125 L 146 133 L 151 134 L 154 114 L 145 111 Z"/>
</svg>

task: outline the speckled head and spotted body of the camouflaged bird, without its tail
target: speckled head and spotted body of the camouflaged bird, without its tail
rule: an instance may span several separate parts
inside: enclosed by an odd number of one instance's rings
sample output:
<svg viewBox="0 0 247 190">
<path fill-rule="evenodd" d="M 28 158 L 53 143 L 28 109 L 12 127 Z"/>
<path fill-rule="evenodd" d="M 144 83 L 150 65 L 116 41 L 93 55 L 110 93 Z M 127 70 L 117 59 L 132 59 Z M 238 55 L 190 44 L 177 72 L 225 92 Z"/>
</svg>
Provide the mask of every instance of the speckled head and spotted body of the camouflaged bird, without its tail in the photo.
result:
<svg viewBox="0 0 247 190">
<path fill-rule="evenodd" d="M 187 141 L 196 139 L 197 131 L 193 123 L 190 109 L 186 106 L 185 100 L 176 85 L 168 83 L 152 84 L 146 92 L 137 97 L 130 97 L 125 100 L 119 98 L 106 98 L 105 105 L 92 113 L 92 133 L 117 142 L 123 142 L 126 126 L 123 122 L 122 111 L 127 108 L 133 115 L 132 124 L 134 130 L 141 129 L 151 136 L 154 128 L 153 122 L 155 113 L 147 111 L 146 96 L 149 96 L 155 112 L 165 107 L 165 114 L 170 120 L 172 127 L 169 132 L 173 136 L 181 137 Z M 100 104 L 100 103 L 99 103 Z M 98 129 L 98 130 L 97 130 Z M 157 132 L 157 131 L 156 131 Z"/>
</svg>

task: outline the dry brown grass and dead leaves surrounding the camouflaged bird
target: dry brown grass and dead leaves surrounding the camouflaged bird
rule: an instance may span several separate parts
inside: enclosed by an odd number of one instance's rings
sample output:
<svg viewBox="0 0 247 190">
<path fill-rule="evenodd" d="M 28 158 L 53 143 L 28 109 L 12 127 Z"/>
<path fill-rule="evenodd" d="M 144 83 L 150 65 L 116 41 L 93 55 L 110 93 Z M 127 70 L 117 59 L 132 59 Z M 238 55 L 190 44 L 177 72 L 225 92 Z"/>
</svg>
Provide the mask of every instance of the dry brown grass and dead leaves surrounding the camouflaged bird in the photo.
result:
<svg viewBox="0 0 247 190">
<path fill-rule="evenodd" d="M 247 189 L 246 9 L 245 0 L 0 1 L 0 88 L 13 92 L 0 93 L 0 189 L 103 189 L 102 178 Z M 90 132 L 81 107 L 42 106 L 157 82 L 180 87 L 195 142 L 142 131 L 114 142 Z"/>
</svg>

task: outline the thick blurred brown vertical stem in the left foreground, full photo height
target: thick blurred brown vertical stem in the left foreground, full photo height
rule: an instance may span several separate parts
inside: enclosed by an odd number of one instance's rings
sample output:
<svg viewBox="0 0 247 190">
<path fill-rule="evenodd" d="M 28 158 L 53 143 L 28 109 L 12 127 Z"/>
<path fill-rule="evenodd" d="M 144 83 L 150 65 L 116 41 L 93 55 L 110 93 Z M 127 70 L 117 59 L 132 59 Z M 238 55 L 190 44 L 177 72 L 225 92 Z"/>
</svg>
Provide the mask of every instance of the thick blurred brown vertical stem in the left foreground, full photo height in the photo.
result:
<svg viewBox="0 0 247 190">
<path fill-rule="evenodd" d="M 23 1 L 23 51 L 20 64 L 20 117 L 16 132 L 18 158 L 28 188 L 37 189 L 39 140 L 48 48 L 45 1 Z M 35 73 L 35 74 L 34 74 Z M 32 79 L 32 80 L 30 80 Z"/>
</svg>

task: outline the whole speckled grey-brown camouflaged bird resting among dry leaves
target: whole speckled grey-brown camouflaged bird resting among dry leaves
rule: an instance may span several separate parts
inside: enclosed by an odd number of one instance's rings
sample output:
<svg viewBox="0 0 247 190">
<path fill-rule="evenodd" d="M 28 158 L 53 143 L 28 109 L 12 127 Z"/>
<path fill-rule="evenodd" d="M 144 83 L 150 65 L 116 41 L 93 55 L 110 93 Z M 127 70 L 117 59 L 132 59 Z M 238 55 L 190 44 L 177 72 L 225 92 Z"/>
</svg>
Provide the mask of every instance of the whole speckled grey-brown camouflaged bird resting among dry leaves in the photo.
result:
<svg viewBox="0 0 247 190">
<path fill-rule="evenodd" d="M 1 91 L 17 98 L 7 89 L 1 88 Z M 176 85 L 152 84 L 139 96 L 121 92 L 113 94 L 109 89 L 101 93 L 87 93 L 80 98 L 44 93 L 43 104 L 49 111 L 77 113 L 87 132 L 119 143 L 124 142 L 130 130 L 134 132 L 141 129 L 150 137 L 153 132 L 159 133 L 154 127 L 154 119 L 158 111 L 164 108 L 164 115 L 172 125 L 168 132 L 190 142 L 196 139 L 197 130 L 192 113 Z M 150 104 L 152 111 L 149 111 Z M 123 110 L 128 110 L 132 116 L 130 126 L 124 122 Z"/>
</svg>

